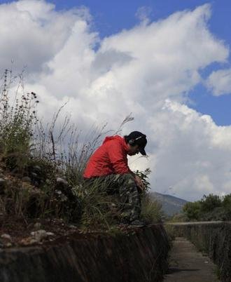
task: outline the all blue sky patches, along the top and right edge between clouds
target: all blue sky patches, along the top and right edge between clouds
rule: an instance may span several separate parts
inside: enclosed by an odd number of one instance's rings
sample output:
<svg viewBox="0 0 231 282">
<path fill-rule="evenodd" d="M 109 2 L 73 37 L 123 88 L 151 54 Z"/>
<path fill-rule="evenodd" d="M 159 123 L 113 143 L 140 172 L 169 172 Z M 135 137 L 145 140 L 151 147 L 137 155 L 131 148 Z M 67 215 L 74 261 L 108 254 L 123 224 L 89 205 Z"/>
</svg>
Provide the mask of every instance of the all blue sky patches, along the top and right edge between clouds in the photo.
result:
<svg viewBox="0 0 231 282">
<path fill-rule="evenodd" d="M 166 18 L 170 14 L 185 9 L 193 9 L 202 4 L 211 4 L 212 16 L 209 20 L 209 29 L 219 39 L 231 46 L 231 1 L 230 0 L 52 0 L 57 9 L 68 9 L 73 6 L 86 6 L 94 17 L 94 25 L 101 37 L 130 29 L 139 22 L 136 14 L 139 8 L 146 7 L 150 11 L 151 20 Z M 202 71 L 206 75 L 220 65 L 212 65 Z M 225 64 L 230 67 L 230 64 Z M 212 116 L 217 125 L 231 125 L 231 95 L 214 97 L 207 88 L 200 85 L 190 93 L 193 107 L 202 114 Z"/>
</svg>

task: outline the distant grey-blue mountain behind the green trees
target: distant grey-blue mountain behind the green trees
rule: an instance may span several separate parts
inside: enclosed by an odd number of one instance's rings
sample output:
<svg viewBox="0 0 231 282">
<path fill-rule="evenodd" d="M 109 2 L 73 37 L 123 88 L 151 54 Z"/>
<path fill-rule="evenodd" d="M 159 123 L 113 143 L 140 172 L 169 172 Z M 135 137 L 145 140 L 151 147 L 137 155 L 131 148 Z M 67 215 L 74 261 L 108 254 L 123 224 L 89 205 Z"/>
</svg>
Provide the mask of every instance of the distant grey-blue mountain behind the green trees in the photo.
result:
<svg viewBox="0 0 231 282">
<path fill-rule="evenodd" d="M 183 206 L 188 203 L 186 200 L 167 194 L 160 194 L 158 192 L 151 192 L 150 195 L 154 200 L 159 201 L 162 204 L 163 212 L 170 216 L 176 213 L 181 213 Z"/>
</svg>

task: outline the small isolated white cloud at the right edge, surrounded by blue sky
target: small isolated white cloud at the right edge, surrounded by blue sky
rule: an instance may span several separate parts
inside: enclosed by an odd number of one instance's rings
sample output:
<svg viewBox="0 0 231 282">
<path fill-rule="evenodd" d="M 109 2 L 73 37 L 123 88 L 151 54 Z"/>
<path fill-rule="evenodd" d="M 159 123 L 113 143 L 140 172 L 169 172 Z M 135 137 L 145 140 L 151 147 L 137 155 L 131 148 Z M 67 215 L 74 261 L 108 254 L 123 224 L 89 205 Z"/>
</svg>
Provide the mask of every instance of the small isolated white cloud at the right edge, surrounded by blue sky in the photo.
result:
<svg viewBox="0 0 231 282">
<path fill-rule="evenodd" d="M 212 72 L 206 81 L 206 86 L 214 96 L 231 94 L 231 69 Z"/>
</svg>

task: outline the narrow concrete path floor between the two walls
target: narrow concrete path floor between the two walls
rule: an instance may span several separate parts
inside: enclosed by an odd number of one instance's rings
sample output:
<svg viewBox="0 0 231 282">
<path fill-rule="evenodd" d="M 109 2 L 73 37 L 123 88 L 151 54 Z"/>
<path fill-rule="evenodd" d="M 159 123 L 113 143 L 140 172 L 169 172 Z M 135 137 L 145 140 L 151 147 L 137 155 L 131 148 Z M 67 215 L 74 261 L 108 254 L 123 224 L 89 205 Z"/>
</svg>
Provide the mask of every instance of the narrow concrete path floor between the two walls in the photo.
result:
<svg viewBox="0 0 231 282">
<path fill-rule="evenodd" d="M 176 237 L 165 282 L 216 282 L 216 266 L 187 239 Z"/>
</svg>

